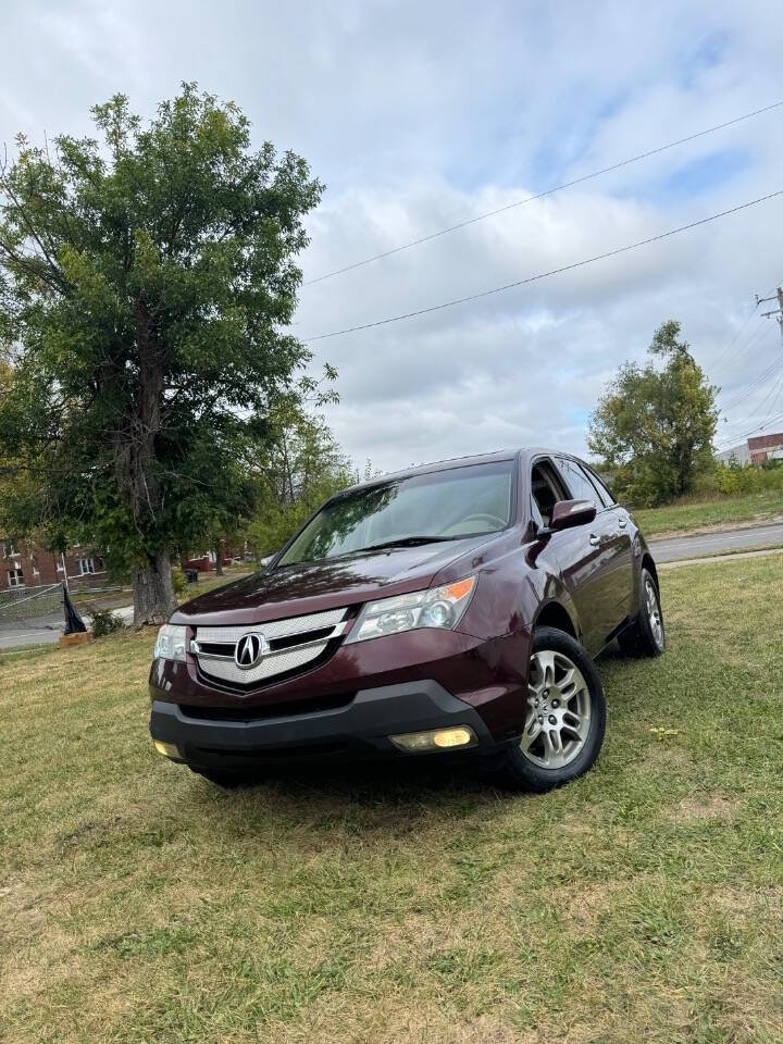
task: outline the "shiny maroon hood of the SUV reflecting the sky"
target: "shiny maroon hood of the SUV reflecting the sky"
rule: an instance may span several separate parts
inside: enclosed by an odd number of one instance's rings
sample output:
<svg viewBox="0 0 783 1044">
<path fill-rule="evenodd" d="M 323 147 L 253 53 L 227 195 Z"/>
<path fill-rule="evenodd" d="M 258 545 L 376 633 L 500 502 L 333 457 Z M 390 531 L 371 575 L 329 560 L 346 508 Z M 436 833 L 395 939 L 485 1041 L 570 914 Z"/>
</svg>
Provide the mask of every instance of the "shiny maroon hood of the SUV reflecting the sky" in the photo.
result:
<svg viewBox="0 0 783 1044">
<path fill-rule="evenodd" d="M 263 623 L 418 591 L 449 562 L 495 536 L 359 551 L 254 573 L 181 606 L 172 623 Z"/>
</svg>

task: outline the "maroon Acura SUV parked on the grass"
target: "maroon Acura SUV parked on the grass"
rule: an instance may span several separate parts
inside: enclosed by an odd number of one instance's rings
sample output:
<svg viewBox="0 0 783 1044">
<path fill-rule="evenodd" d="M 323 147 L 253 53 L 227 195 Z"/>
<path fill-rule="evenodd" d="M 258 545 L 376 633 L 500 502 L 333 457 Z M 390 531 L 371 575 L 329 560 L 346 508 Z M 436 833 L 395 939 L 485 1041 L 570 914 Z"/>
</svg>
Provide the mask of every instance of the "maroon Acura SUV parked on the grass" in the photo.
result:
<svg viewBox="0 0 783 1044">
<path fill-rule="evenodd" d="M 566 453 L 412 468 L 328 500 L 161 629 L 158 750 L 229 785 L 294 759 L 492 755 L 543 791 L 604 738 L 593 657 L 663 651 L 633 518 Z"/>
</svg>

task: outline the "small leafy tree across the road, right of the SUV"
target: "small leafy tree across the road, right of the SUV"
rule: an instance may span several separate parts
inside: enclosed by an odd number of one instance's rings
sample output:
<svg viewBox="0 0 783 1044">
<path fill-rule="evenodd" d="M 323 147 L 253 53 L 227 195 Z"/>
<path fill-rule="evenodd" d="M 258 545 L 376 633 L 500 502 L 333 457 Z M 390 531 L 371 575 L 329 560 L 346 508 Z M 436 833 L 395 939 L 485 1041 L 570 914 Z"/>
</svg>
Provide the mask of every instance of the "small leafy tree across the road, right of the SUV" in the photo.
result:
<svg viewBox="0 0 783 1044">
<path fill-rule="evenodd" d="M 713 465 L 717 388 L 671 320 L 655 332 L 646 365 L 625 363 L 591 418 L 587 444 L 616 472 L 616 492 L 636 504 L 688 493 Z"/>
</svg>

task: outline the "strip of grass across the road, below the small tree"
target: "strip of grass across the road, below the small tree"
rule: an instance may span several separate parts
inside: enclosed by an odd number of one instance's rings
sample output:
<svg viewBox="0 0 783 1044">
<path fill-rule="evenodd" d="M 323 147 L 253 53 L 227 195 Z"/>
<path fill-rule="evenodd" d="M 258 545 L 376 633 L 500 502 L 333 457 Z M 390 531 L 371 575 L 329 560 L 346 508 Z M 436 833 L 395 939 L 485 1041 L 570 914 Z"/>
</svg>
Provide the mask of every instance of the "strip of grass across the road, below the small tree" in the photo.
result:
<svg viewBox="0 0 783 1044">
<path fill-rule="evenodd" d="M 783 515 L 783 492 L 766 489 L 735 497 L 716 494 L 710 499 L 683 499 L 662 508 L 639 508 L 633 513 L 645 536 L 741 525 L 743 522 L 771 522 Z"/>
</svg>

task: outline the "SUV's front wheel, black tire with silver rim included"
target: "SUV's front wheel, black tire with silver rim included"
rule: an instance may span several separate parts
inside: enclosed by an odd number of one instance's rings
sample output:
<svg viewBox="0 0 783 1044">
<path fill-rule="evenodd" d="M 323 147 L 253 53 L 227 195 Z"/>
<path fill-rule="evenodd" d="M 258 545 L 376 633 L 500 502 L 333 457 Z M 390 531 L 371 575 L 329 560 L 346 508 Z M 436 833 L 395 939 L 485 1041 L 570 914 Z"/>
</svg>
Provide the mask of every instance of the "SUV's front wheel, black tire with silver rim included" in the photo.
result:
<svg viewBox="0 0 783 1044">
<path fill-rule="evenodd" d="M 606 701 L 585 648 L 564 631 L 533 636 L 522 736 L 505 751 L 505 769 L 520 790 L 544 793 L 591 769 L 606 732 Z"/>
</svg>

